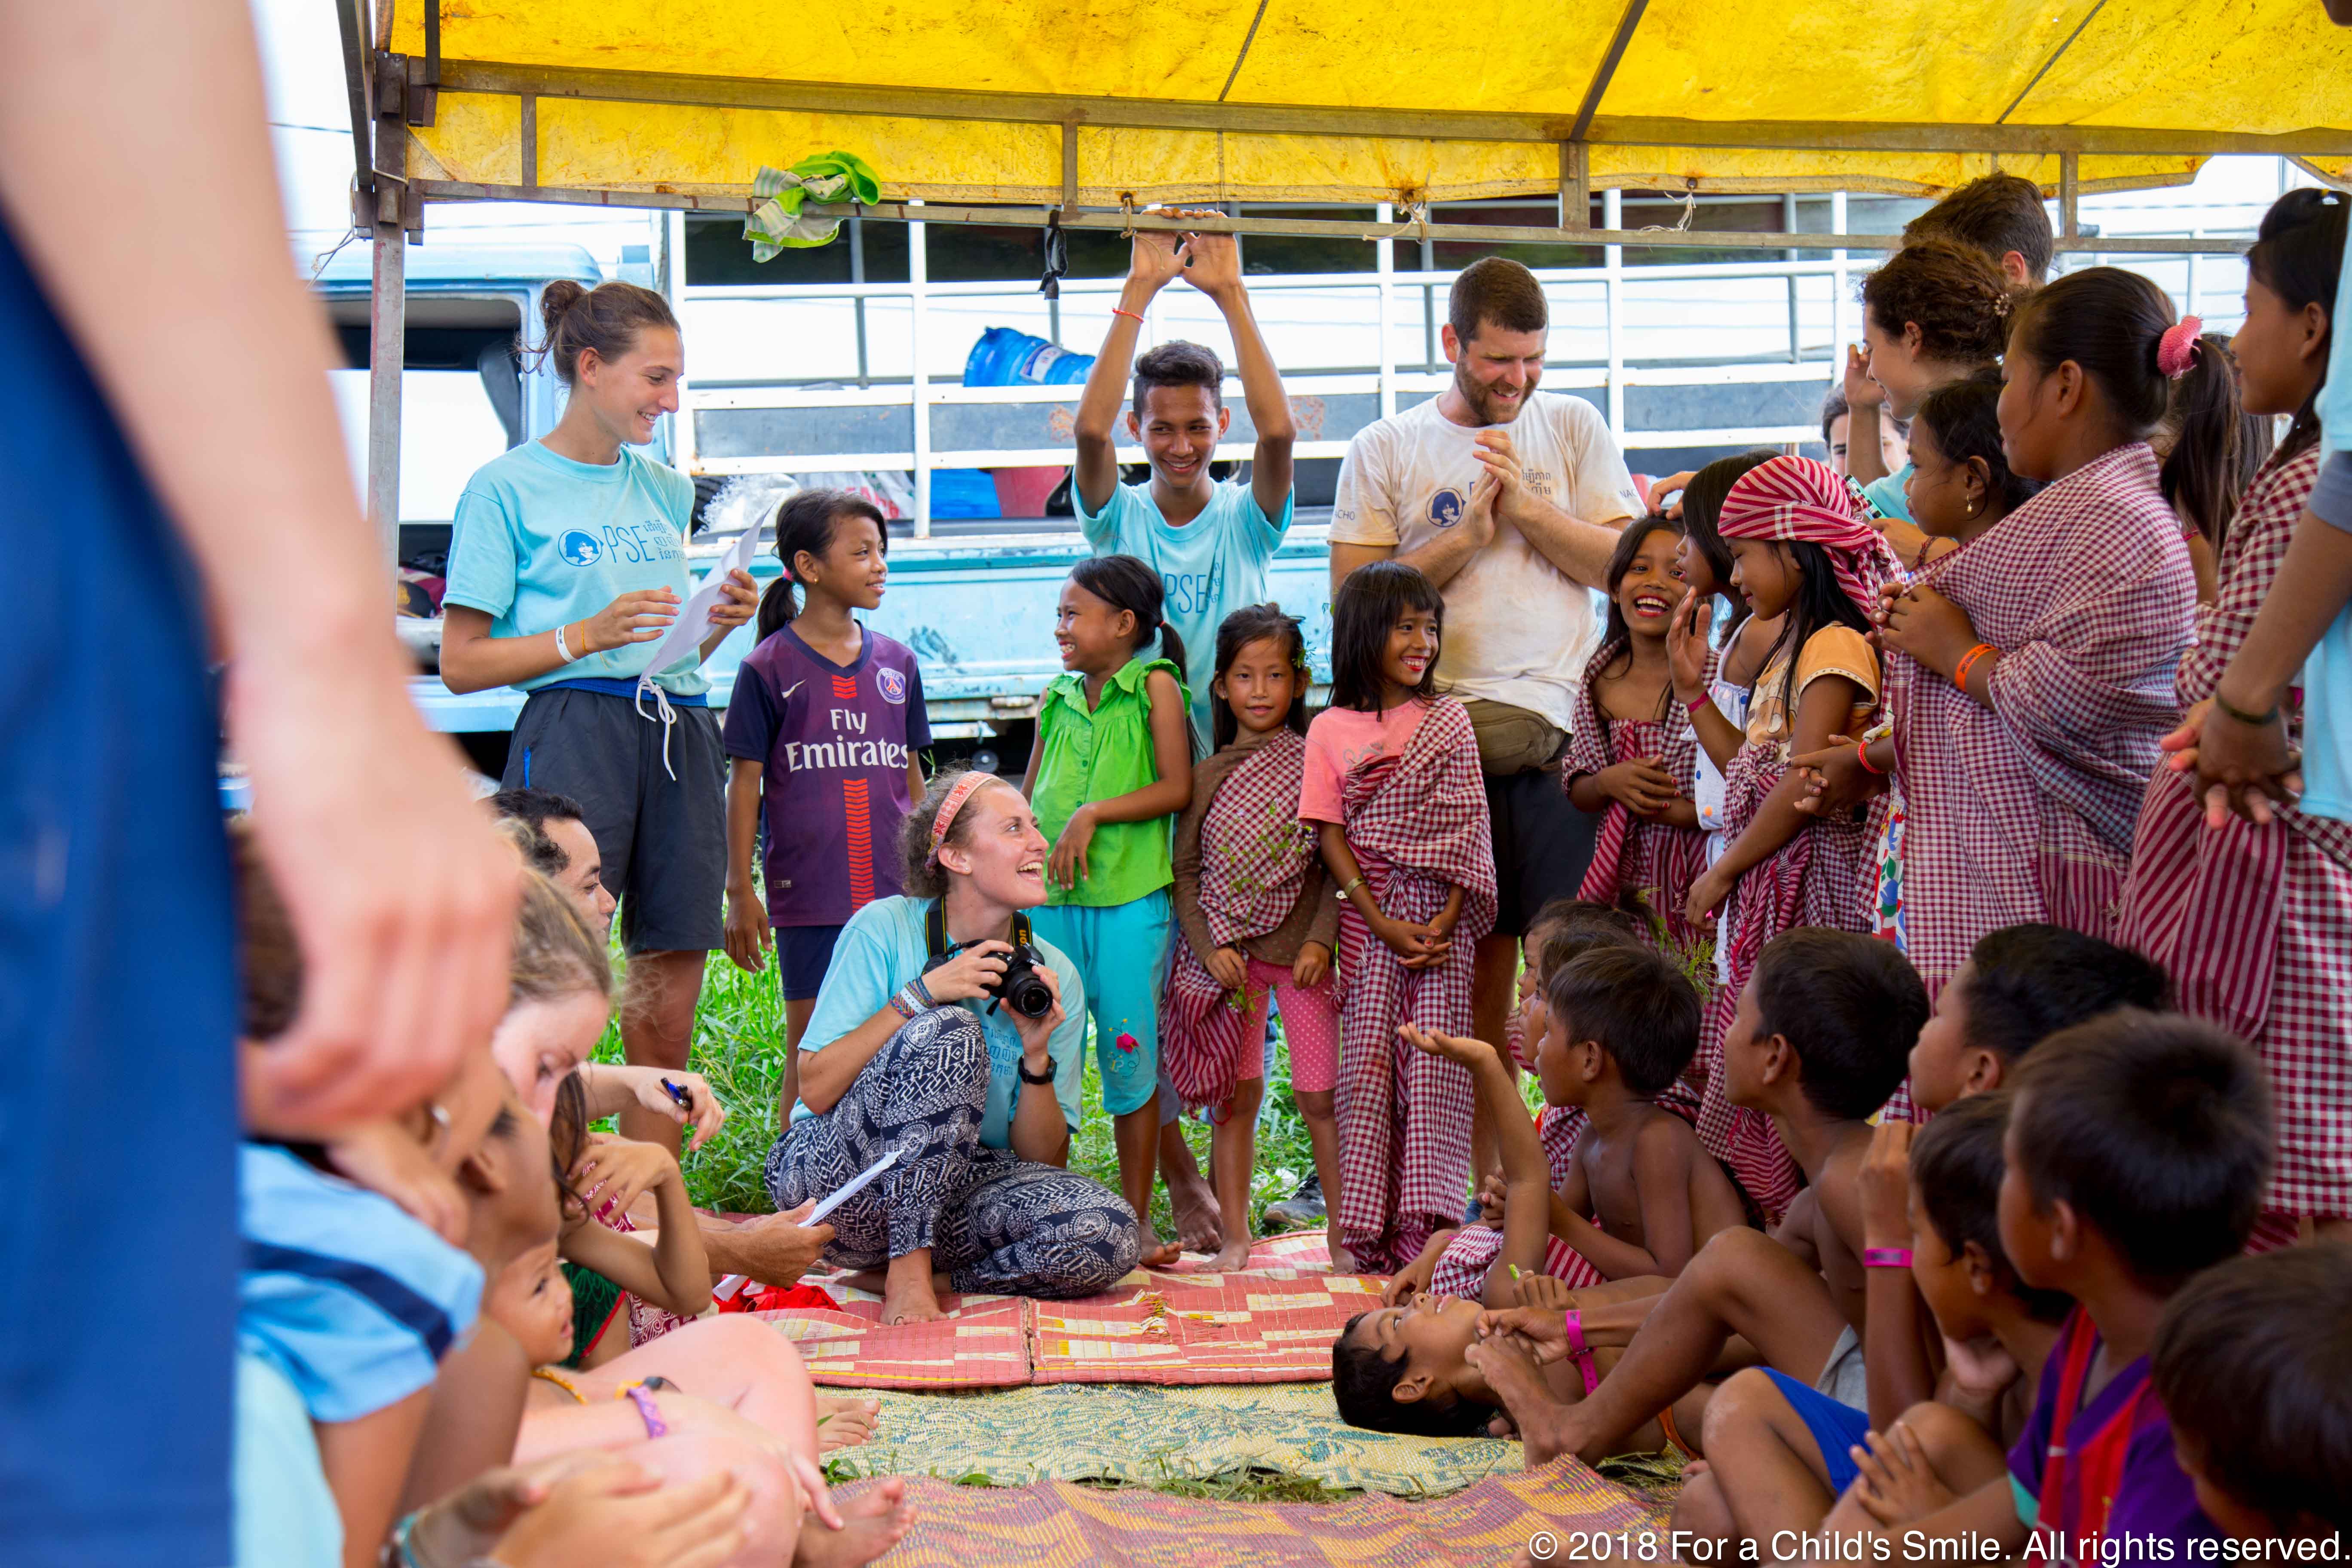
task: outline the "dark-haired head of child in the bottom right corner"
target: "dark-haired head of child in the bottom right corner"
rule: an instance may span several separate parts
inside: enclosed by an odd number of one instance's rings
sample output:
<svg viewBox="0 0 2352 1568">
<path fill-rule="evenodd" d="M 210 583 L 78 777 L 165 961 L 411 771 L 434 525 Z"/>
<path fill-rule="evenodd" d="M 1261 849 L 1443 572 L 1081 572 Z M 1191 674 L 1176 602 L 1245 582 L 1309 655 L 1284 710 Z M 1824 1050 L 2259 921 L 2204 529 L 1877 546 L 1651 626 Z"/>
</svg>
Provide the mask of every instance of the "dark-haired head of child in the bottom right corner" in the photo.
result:
<svg viewBox="0 0 2352 1568">
<path fill-rule="evenodd" d="M 2352 1533 L 2352 1248 L 2232 1258 L 2164 1305 L 2150 1375 L 2206 1519 L 2241 1540 Z"/>
</svg>

